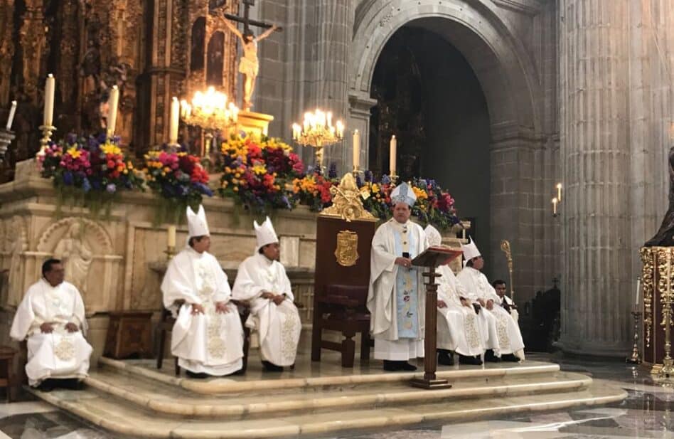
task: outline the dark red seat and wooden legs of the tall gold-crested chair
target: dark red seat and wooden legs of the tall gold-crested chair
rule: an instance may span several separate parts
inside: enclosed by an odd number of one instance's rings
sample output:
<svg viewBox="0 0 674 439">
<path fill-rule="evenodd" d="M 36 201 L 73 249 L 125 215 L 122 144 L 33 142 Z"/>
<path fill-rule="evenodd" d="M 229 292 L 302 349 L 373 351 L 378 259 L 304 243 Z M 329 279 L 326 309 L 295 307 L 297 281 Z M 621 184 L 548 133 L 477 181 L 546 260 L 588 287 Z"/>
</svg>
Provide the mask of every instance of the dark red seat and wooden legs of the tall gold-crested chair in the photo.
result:
<svg viewBox="0 0 674 439">
<path fill-rule="evenodd" d="M 314 328 L 311 334 L 311 360 L 321 360 L 321 349 L 342 354 L 342 367 L 353 367 L 355 342 L 360 332 L 360 361 L 370 359 L 370 313 L 366 307 L 368 287 L 326 285 L 325 294 L 314 300 Z M 323 329 L 342 333 L 341 343 L 323 340 Z"/>
</svg>

